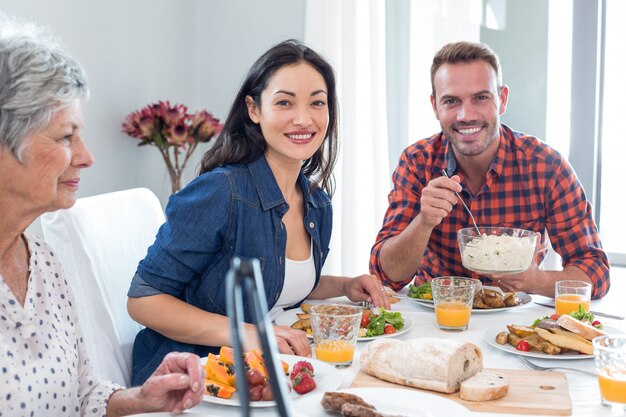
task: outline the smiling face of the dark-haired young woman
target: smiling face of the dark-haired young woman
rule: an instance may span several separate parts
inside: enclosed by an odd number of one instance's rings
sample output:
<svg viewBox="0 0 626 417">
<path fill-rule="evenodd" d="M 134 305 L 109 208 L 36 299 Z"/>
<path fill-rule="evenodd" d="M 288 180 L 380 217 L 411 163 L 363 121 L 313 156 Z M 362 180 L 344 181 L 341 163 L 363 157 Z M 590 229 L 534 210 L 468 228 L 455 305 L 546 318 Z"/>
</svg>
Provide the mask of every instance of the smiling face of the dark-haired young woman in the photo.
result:
<svg viewBox="0 0 626 417">
<path fill-rule="evenodd" d="M 328 89 L 308 63 L 287 65 L 269 80 L 260 103 L 246 97 L 248 114 L 261 127 L 268 160 L 297 163 L 320 148 L 328 130 Z"/>
</svg>

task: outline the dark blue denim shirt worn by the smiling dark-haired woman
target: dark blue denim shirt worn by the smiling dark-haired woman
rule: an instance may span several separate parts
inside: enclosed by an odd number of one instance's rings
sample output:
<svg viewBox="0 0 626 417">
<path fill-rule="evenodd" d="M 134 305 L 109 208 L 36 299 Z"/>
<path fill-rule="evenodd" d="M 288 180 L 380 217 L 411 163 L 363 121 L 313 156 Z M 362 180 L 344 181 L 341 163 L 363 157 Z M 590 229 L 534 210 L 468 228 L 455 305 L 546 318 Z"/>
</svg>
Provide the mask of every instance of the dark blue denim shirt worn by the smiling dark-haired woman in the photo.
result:
<svg viewBox="0 0 626 417">
<path fill-rule="evenodd" d="M 332 207 L 328 195 L 301 173 L 304 225 L 311 236 L 316 280 L 328 255 Z M 285 279 L 287 233 L 282 216 L 288 209 L 274 175 L 260 157 L 249 164 L 216 168 L 173 195 L 167 222 L 139 263 L 129 297 L 170 294 L 211 313 L 226 315 L 226 273 L 233 256 L 258 258 L 267 304 L 278 300 Z M 251 321 L 249 307 L 245 319 Z M 217 348 L 177 342 L 143 329 L 133 347 L 133 385 L 142 384 L 172 351 L 206 356 Z"/>
</svg>

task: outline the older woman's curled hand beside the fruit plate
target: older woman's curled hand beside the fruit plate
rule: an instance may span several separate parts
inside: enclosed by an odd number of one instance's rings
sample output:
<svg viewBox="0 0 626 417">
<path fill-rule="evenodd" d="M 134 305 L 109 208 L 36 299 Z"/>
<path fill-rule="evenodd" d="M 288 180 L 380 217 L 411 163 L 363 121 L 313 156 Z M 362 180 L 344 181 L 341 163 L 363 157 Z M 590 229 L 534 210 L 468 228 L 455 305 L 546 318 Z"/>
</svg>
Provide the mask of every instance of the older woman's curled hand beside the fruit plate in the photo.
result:
<svg viewBox="0 0 626 417">
<path fill-rule="evenodd" d="M 138 398 L 146 410 L 181 413 L 202 400 L 204 367 L 192 353 L 169 353 L 141 387 Z"/>
</svg>

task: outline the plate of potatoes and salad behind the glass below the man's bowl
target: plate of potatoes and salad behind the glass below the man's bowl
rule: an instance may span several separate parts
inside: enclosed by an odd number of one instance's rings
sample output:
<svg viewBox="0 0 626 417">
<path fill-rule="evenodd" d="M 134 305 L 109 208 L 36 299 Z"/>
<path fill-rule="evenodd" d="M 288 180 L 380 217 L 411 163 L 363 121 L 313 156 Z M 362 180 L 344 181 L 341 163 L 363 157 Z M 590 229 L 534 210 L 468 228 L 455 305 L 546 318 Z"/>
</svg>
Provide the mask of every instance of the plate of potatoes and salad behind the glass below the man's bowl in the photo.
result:
<svg viewBox="0 0 626 417">
<path fill-rule="evenodd" d="M 390 297 L 393 297 L 391 295 Z M 408 297 L 415 302 L 435 308 L 432 300 L 430 282 L 415 286 L 409 284 Z M 473 313 L 497 313 L 525 306 L 532 301 L 532 297 L 522 291 L 504 292 L 498 287 L 481 284 L 480 289 L 474 295 Z"/>
</svg>

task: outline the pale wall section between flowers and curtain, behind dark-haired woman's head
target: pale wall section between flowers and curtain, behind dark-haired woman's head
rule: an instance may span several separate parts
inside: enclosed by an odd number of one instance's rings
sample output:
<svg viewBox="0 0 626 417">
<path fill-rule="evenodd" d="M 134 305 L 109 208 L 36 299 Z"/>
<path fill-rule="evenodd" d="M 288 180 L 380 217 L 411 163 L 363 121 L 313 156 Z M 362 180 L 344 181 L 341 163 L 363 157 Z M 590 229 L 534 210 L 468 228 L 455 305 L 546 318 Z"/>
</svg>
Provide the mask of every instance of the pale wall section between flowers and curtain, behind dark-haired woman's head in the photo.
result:
<svg viewBox="0 0 626 417">
<path fill-rule="evenodd" d="M 223 122 L 254 61 L 274 44 L 289 38 L 303 40 L 305 2 L 196 0 L 197 106 Z M 196 176 L 202 153 L 197 151 L 190 160 L 187 180 Z"/>
</svg>

